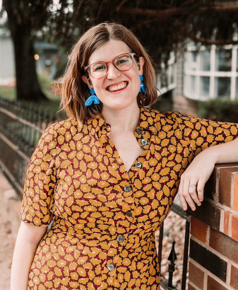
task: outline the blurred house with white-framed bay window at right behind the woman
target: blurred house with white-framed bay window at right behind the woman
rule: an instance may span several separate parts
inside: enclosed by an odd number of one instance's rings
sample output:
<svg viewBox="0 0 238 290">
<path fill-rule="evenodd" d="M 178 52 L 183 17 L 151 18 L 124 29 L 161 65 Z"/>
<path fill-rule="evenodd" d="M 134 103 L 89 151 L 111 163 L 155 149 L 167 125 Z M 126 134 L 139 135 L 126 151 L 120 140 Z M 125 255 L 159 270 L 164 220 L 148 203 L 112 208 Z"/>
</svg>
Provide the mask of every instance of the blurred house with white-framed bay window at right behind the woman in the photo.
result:
<svg viewBox="0 0 238 290">
<path fill-rule="evenodd" d="M 173 111 L 197 116 L 196 101 L 238 98 L 238 55 L 236 45 L 217 47 L 189 43 L 177 60 L 177 86 Z"/>
</svg>

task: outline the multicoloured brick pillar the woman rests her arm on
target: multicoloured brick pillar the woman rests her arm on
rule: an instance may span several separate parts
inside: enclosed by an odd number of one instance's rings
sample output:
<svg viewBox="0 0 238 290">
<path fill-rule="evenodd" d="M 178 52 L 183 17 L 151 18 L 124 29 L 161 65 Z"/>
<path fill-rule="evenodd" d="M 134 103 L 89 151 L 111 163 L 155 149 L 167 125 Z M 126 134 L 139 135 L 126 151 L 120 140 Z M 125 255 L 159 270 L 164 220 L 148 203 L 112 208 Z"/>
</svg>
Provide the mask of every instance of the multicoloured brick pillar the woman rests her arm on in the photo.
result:
<svg viewBox="0 0 238 290">
<path fill-rule="evenodd" d="M 238 289 L 238 164 L 217 164 L 191 219 L 188 290 Z"/>
</svg>

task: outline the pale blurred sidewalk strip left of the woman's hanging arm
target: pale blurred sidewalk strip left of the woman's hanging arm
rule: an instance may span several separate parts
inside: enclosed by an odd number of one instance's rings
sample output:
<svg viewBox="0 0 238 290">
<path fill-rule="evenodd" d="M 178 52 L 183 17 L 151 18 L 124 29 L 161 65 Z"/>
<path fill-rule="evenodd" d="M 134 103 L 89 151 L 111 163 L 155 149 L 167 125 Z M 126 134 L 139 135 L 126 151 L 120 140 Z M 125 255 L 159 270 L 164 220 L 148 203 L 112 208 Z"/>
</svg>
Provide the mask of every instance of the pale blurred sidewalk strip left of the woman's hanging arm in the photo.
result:
<svg viewBox="0 0 238 290">
<path fill-rule="evenodd" d="M 10 289 L 13 250 L 20 226 L 21 201 L 0 168 L 0 290 Z"/>
</svg>

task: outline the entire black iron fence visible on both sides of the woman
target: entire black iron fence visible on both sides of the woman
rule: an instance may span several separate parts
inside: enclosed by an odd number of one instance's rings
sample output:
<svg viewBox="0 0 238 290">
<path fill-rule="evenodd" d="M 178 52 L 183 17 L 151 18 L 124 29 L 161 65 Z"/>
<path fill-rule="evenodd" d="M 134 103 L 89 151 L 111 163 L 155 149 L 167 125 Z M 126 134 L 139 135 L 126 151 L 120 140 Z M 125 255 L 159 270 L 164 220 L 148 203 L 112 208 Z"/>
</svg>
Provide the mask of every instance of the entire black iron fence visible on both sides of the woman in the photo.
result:
<svg viewBox="0 0 238 290">
<path fill-rule="evenodd" d="M 46 127 L 56 121 L 63 120 L 63 112 L 50 113 L 44 107 L 28 102 L 9 102 L 0 97 L 0 166 L 22 196 L 27 167 L 31 155 Z M 177 204 L 173 204 L 173 212 L 186 220 L 184 237 L 184 259 L 181 289 L 185 289 L 188 244 L 191 216 Z M 166 220 L 165 220 L 166 222 Z M 159 234 L 158 258 L 161 264 L 162 257 L 163 224 Z M 177 289 L 172 285 L 173 272 L 175 270 L 176 254 L 174 243 L 168 257 L 169 278 L 161 276 L 161 285 L 165 290 Z"/>
</svg>

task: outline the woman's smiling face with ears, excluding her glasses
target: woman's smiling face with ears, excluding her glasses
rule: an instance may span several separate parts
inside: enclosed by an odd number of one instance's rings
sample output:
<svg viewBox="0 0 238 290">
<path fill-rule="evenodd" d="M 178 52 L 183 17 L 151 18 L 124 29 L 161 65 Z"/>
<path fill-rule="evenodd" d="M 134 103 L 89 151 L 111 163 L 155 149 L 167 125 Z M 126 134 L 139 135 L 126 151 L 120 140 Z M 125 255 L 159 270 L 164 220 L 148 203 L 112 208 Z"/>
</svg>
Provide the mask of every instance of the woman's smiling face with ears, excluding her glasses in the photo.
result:
<svg viewBox="0 0 238 290">
<path fill-rule="evenodd" d="M 110 40 L 91 54 L 88 65 L 99 61 L 108 62 L 120 54 L 131 52 L 124 42 Z M 132 68 L 127 71 L 119 71 L 110 62 L 106 76 L 100 79 L 82 76 L 89 89 L 94 88 L 95 94 L 103 103 L 103 111 L 138 107 L 136 98 L 140 89 L 139 75 L 143 74 L 144 59 L 139 57 L 139 60 L 140 65 L 134 59 Z"/>
</svg>

